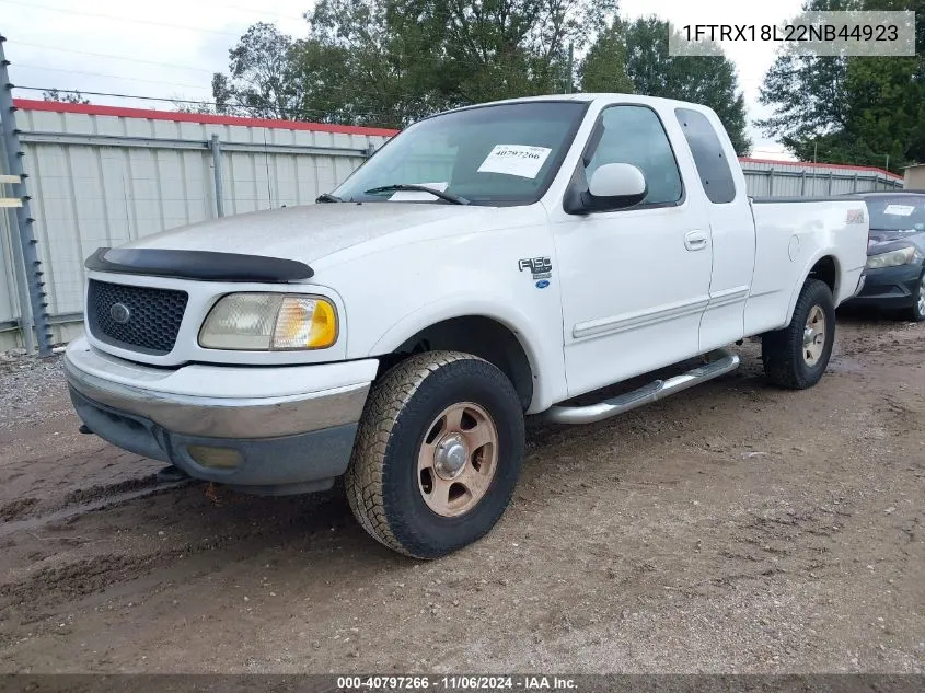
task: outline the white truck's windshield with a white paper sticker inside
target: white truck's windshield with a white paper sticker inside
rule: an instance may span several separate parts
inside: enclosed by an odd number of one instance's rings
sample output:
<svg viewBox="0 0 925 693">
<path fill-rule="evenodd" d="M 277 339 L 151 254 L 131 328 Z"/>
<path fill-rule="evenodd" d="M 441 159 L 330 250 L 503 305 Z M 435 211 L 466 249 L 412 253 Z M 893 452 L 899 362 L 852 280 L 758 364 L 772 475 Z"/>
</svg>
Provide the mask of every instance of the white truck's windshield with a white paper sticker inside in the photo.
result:
<svg viewBox="0 0 925 693">
<path fill-rule="evenodd" d="M 421 120 L 397 135 L 333 194 L 349 201 L 448 204 L 419 190 L 388 189 L 412 184 L 473 205 L 535 203 L 552 183 L 587 107 L 575 101 L 534 101 Z"/>
</svg>

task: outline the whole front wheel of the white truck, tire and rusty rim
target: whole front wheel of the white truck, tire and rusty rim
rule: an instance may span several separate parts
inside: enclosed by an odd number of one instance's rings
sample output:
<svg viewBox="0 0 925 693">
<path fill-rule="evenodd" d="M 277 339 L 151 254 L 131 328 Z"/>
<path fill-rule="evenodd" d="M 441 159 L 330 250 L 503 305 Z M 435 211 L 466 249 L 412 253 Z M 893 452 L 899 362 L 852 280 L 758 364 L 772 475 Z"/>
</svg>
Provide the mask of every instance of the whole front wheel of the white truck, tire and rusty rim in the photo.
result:
<svg viewBox="0 0 925 693">
<path fill-rule="evenodd" d="M 523 436 L 520 399 L 495 366 L 454 351 L 414 356 L 370 393 L 347 467 L 350 509 L 408 556 L 462 548 L 507 508 Z"/>
</svg>

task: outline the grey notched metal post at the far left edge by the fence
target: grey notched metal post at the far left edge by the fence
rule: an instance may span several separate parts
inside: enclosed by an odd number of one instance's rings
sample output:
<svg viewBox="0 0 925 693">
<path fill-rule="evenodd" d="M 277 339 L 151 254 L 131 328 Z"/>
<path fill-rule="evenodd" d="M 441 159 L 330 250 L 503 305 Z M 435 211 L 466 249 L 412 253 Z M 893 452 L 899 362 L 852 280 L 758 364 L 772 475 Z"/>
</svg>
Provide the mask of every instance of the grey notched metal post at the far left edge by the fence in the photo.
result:
<svg viewBox="0 0 925 693">
<path fill-rule="evenodd" d="M 36 251 L 35 235 L 32 232 L 32 224 L 35 219 L 30 207 L 30 196 L 25 188 L 26 173 L 23 170 L 23 157 L 25 152 L 20 147 L 19 129 L 16 129 L 16 107 L 13 105 L 13 84 L 10 82 L 10 73 L 7 67 L 10 65 L 3 53 L 3 43 L 7 39 L 0 35 L 0 118 L 3 129 L 3 147 L 7 150 L 7 161 L 10 173 L 19 176 L 20 182 L 13 183 L 13 196 L 22 200 L 22 207 L 16 208 L 16 228 L 20 235 L 20 245 L 23 254 L 23 266 L 25 280 L 28 288 L 28 303 L 32 308 L 32 322 L 35 325 L 35 337 L 38 343 L 38 355 L 50 356 L 51 354 L 51 328 L 48 324 L 47 297 L 42 280 L 42 262 Z M 23 311 L 25 313 L 25 311 Z M 23 321 L 25 328 L 27 323 Z"/>
</svg>

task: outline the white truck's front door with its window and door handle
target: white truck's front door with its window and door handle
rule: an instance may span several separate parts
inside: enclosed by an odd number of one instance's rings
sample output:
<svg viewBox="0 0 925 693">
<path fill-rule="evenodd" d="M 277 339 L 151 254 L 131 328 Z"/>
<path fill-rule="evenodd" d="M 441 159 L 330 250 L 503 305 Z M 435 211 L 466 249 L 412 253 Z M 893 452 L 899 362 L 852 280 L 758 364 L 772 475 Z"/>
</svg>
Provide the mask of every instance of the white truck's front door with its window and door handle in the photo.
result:
<svg viewBox="0 0 925 693">
<path fill-rule="evenodd" d="M 570 396 L 697 354 L 709 299 L 706 206 L 685 194 L 662 120 L 624 104 L 605 108 L 599 127 L 582 162 L 587 180 L 601 164 L 632 163 L 648 194 L 631 209 L 554 223 Z"/>
</svg>

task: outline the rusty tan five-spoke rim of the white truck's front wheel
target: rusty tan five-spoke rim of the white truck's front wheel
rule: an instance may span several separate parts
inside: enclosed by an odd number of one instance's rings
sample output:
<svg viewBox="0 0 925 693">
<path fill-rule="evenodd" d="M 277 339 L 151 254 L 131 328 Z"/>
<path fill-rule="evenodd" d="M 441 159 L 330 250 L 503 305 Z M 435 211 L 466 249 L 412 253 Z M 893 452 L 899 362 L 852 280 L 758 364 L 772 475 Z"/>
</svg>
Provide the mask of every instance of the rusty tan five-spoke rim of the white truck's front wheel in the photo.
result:
<svg viewBox="0 0 925 693">
<path fill-rule="evenodd" d="M 472 402 L 443 409 L 428 426 L 417 457 L 417 482 L 427 507 L 452 518 L 472 510 L 498 467 L 498 429 Z"/>
</svg>

